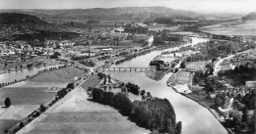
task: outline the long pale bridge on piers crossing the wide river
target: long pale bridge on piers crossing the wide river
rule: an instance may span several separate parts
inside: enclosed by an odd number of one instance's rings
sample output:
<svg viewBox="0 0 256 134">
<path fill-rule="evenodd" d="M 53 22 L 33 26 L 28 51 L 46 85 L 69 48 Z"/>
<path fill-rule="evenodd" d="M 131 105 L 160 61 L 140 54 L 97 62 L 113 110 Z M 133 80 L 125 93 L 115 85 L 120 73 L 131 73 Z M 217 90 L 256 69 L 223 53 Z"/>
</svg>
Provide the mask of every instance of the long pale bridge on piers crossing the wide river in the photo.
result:
<svg viewBox="0 0 256 134">
<path fill-rule="evenodd" d="M 135 72 L 146 72 L 157 70 L 156 67 L 99 67 L 99 71 L 135 71 Z"/>
</svg>

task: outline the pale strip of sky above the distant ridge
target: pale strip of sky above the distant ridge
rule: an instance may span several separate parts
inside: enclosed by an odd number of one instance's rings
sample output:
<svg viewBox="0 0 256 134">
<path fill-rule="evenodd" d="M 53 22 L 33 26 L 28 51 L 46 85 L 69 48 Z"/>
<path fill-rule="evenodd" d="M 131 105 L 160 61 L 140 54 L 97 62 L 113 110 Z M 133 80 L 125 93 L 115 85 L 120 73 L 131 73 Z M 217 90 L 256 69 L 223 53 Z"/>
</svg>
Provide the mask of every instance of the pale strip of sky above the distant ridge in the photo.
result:
<svg viewBox="0 0 256 134">
<path fill-rule="evenodd" d="M 0 0 L 0 9 L 154 7 L 203 13 L 256 12 L 256 0 Z"/>
</svg>

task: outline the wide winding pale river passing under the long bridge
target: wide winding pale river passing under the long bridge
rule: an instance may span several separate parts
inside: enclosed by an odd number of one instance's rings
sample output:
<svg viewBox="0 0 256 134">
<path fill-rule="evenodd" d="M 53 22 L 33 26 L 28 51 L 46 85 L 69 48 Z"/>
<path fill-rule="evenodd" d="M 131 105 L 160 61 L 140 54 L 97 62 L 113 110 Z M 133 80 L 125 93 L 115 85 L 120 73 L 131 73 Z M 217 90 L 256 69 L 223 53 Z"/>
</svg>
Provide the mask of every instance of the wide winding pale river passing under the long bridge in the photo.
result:
<svg viewBox="0 0 256 134">
<path fill-rule="evenodd" d="M 187 45 L 194 45 L 205 41 L 208 41 L 208 39 L 192 38 L 192 43 Z M 164 51 L 176 49 L 178 48 Z M 160 53 L 161 51 L 155 51 L 115 67 L 149 67 L 151 60 L 160 55 Z M 166 85 L 166 81 L 171 73 L 166 74 L 160 81 L 155 81 L 142 72 L 118 71 L 108 73 L 116 79 L 139 85 L 141 89 L 150 91 L 153 96 L 168 99 L 176 112 L 177 121 L 182 121 L 182 134 L 227 134 L 224 126 L 211 112 L 196 102 L 174 92 Z"/>
</svg>

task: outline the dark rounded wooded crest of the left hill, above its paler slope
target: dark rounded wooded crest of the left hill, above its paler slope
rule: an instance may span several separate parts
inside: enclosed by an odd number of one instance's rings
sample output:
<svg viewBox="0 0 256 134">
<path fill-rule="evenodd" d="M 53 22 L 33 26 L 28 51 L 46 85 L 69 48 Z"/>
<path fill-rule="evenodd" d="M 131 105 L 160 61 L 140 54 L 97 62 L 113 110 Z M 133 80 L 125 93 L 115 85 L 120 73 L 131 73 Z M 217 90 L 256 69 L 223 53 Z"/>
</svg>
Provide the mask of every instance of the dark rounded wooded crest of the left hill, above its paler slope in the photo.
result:
<svg viewBox="0 0 256 134">
<path fill-rule="evenodd" d="M 0 24 L 45 24 L 46 22 L 38 19 L 35 16 L 21 14 L 21 13 L 1 13 Z"/>
</svg>

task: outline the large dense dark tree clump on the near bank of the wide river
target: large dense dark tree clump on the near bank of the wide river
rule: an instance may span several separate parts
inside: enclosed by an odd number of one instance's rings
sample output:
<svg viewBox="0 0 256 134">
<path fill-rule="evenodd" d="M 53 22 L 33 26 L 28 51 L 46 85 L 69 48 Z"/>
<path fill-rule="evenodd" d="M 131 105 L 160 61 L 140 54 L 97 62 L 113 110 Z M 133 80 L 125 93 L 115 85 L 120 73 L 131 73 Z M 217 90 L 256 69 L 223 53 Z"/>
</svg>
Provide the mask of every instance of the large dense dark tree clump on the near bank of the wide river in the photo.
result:
<svg viewBox="0 0 256 134">
<path fill-rule="evenodd" d="M 159 133 L 181 133 L 181 122 L 176 122 L 175 112 L 167 99 L 151 98 L 132 102 L 126 92 L 114 94 L 98 88 L 93 89 L 92 95 L 95 102 L 120 110 L 139 126 Z"/>
</svg>

